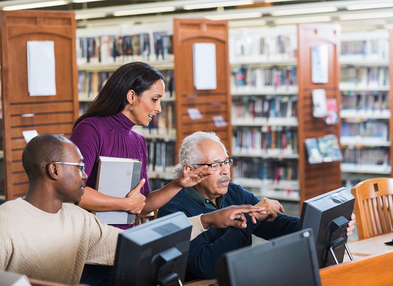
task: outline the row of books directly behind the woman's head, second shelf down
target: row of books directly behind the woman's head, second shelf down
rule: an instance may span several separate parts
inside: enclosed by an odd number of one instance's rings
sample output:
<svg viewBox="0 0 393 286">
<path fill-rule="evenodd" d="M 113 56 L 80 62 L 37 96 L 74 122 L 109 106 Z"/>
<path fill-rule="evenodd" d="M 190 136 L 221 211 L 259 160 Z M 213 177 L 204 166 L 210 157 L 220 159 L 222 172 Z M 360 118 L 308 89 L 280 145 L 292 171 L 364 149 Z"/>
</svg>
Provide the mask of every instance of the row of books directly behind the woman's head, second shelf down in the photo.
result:
<svg viewBox="0 0 393 286">
<path fill-rule="evenodd" d="M 166 96 L 172 97 L 174 95 L 174 77 L 173 70 L 161 71 L 165 78 Z M 108 78 L 113 72 L 78 72 L 78 92 L 79 97 L 83 99 L 94 99 L 97 93 L 107 82 Z"/>
</svg>

